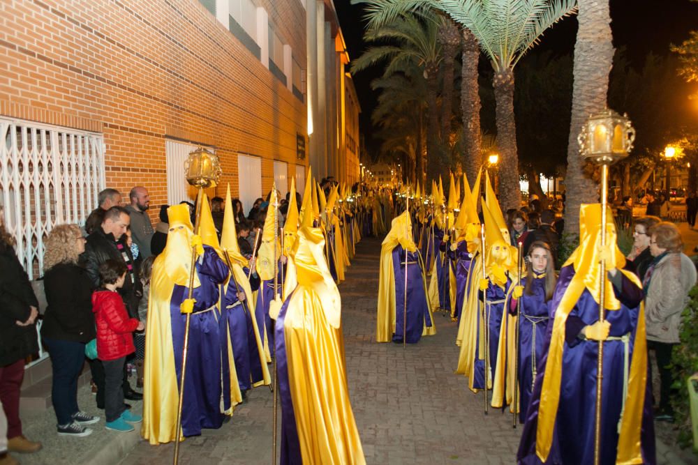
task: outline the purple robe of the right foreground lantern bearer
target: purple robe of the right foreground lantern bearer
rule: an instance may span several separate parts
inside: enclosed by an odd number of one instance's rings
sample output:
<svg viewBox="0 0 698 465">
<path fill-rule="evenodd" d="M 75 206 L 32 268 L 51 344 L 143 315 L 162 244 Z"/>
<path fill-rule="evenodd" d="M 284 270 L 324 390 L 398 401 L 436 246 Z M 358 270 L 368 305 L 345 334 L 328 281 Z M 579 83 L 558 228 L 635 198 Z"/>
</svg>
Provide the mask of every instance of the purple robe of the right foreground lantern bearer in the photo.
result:
<svg viewBox="0 0 698 465">
<path fill-rule="evenodd" d="M 614 294 L 621 301 L 619 310 L 606 312 L 606 319 L 611 323 L 609 337 L 621 337 L 629 334 L 628 342 L 630 360 L 634 344 L 635 327 L 642 291 L 627 277 L 620 275 L 621 285 L 614 284 Z M 551 310 L 548 325 L 546 352 L 540 363 L 538 376 L 533 388 L 526 423 L 523 426 L 521 443 L 517 454 L 518 463 L 522 465 L 540 464 L 535 454 L 538 406 L 545 373 L 547 348 L 552 335 L 555 310 L 565 294 L 565 290 L 574 277 L 572 265 L 565 266 L 560 272 L 555 294 L 549 302 Z M 581 465 L 594 462 L 594 427 L 596 405 L 596 374 L 598 342 L 581 340 L 578 335 L 586 325 L 595 323 L 599 318 L 599 307 L 589 291 L 584 289 L 577 304 L 567 317 L 565 323 L 565 345 L 563 349 L 562 381 L 560 384 L 560 403 L 555 420 L 553 442 L 546 464 Z M 604 342 L 604 372 L 602 380 L 602 424 L 600 463 L 616 463 L 618 445 L 618 420 L 623 408 L 623 364 L 625 344 L 620 340 Z M 649 379 L 649 378 L 648 378 Z M 654 425 L 652 418 L 652 396 L 650 383 L 646 383 L 645 402 L 641 425 L 641 452 L 645 464 L 655 464 Z"/>
</svg>

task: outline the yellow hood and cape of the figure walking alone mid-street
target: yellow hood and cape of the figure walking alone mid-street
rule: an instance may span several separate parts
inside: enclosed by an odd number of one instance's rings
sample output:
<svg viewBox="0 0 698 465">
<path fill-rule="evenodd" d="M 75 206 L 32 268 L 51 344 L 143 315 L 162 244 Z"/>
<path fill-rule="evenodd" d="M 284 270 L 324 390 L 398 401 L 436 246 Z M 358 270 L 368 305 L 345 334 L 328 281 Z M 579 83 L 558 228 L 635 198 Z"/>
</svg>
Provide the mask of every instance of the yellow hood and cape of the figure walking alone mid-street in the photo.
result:
<svg viewBox="0 0 698 465">
<path fill-rule="evenodd" d="M 392 251 L 397 246 L 401 245 L 408 252 L 415 252 L 417 246 L 412 239 L 412 227 L 410 216 L 405 211 L 401 215 L 392 220 L 392 227 L 387 236 L 383 240 L 383 245 L 380 247 L 380 275 L 378 277 L 378 315 L 376 318 L 376 342 L 390 342 L 392 335 L 395 332 L 395 276 L 393 272 Z M 422 266 L 422 286 L 426 293 L 426 282 L 424 281 L 424 264 L 421 259 L 419 265 Z M 431 327 L 424 324 L 422 330 L 423 336 L 431 336 L 436 334 L 436 325 L 434 323 L 429 302 L 429 295 L 426 296 L 427 307 L 429 307 L 429 317 L 431 319 Z"/>
</svg>

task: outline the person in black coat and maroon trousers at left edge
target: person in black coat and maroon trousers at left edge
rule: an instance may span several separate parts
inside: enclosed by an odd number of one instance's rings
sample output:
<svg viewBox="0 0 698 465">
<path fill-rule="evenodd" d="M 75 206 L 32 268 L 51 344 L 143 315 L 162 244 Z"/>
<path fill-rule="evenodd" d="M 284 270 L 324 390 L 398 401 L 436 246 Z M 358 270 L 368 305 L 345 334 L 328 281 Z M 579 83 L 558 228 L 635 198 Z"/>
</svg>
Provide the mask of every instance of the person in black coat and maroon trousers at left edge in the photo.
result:
<svg viewBox="0 0 698 465">
<path fill-rule="evenodd" d="M 38 352 L 38 301 L 29 278 L 17 259 L 15 240 L 5 229 L 0 207 L 0 402 L 7 416 L 7 449 L 36 452 L 41 443 L 22 435 L 20 388 L 24 359 Z"/>
</svg>

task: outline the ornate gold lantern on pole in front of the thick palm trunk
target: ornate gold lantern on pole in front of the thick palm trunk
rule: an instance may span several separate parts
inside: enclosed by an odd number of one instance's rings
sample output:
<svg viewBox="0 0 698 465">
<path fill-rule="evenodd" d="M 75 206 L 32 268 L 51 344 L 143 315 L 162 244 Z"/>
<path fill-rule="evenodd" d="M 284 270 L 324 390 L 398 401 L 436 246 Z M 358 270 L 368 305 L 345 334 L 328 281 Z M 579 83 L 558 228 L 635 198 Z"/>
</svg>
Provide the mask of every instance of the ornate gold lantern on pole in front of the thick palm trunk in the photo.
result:
<svg viewBox="0 0 698 465">
<path fill-rule="evenodd" d="M 577 137 L 579 152 L 585 160 L 601 165 L 601 247 L 606 246 L 606 209 L 608 205 L 609 166 L 623 160 L 632 150 L 635 130 L 628 115 L 605 108 L 592 114 L 581 127 Z M 604 321 L 604 297 L 606 296 L 606 263 L 600 263 L 599 321 Z M 604 342 L 599 341 L 596 374 L 596 413 L 594 431 L 594 464 L 600 464 L 601 453 L 601 397 L 603 379 Z"/>
</svg>

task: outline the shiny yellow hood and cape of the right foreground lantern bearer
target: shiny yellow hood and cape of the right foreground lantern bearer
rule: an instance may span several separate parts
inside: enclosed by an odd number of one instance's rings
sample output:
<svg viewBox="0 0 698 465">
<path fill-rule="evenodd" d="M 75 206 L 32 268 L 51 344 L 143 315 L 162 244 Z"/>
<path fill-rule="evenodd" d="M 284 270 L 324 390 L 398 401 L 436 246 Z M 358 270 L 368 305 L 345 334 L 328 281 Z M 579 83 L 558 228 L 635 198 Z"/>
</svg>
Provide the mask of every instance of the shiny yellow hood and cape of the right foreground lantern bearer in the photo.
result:
<svg viewBox="0 0 698 465">
<path fill-rule="evenodd" d="M 601 205 L 582 204 L 579 211 L 579 247 L 574 250 L 563 266 L 574 266 L 574 277 L 565 290 L 555 312 L 553 332 L 551 335 L 548 359 L 543 376 L 540 406 L 538 407 L 538 424 L 536 430 L 536 455 L 543 461 L 547 459 L 553 441 L 555 419 L 560 402 L 560 383 L 562 376 L 563 349 L 565 346 L 565 322 L 577 304 L 584 289 L 600 302 L 600 244 L 601 244 Z M 610 208 L 607 211 L 607 244 L 614 250 L 611 263 L 607 269 L 618 268 L 625 277 L 638 287 L 641 284 L 633 273 L 622 270 L 625 257 L 616 245 L 616 227 Z M 613 285 L 607 281 L 607 293 L 604 300 L 606 310 L 618 310 L 621 303 L 616 299 Z M 625 399 L 625 411 L 621 422 L 621 434 L 618 439 L 617 462 L 623 464 L 641 464 L 640 431 L 642 406 L 644 404 L 644 386 L 646 382 L 647 353 L 645 342 L 644 305 L 640 305 L 635 346 L 630 366 L 628 397 Z"/>
</svg>

